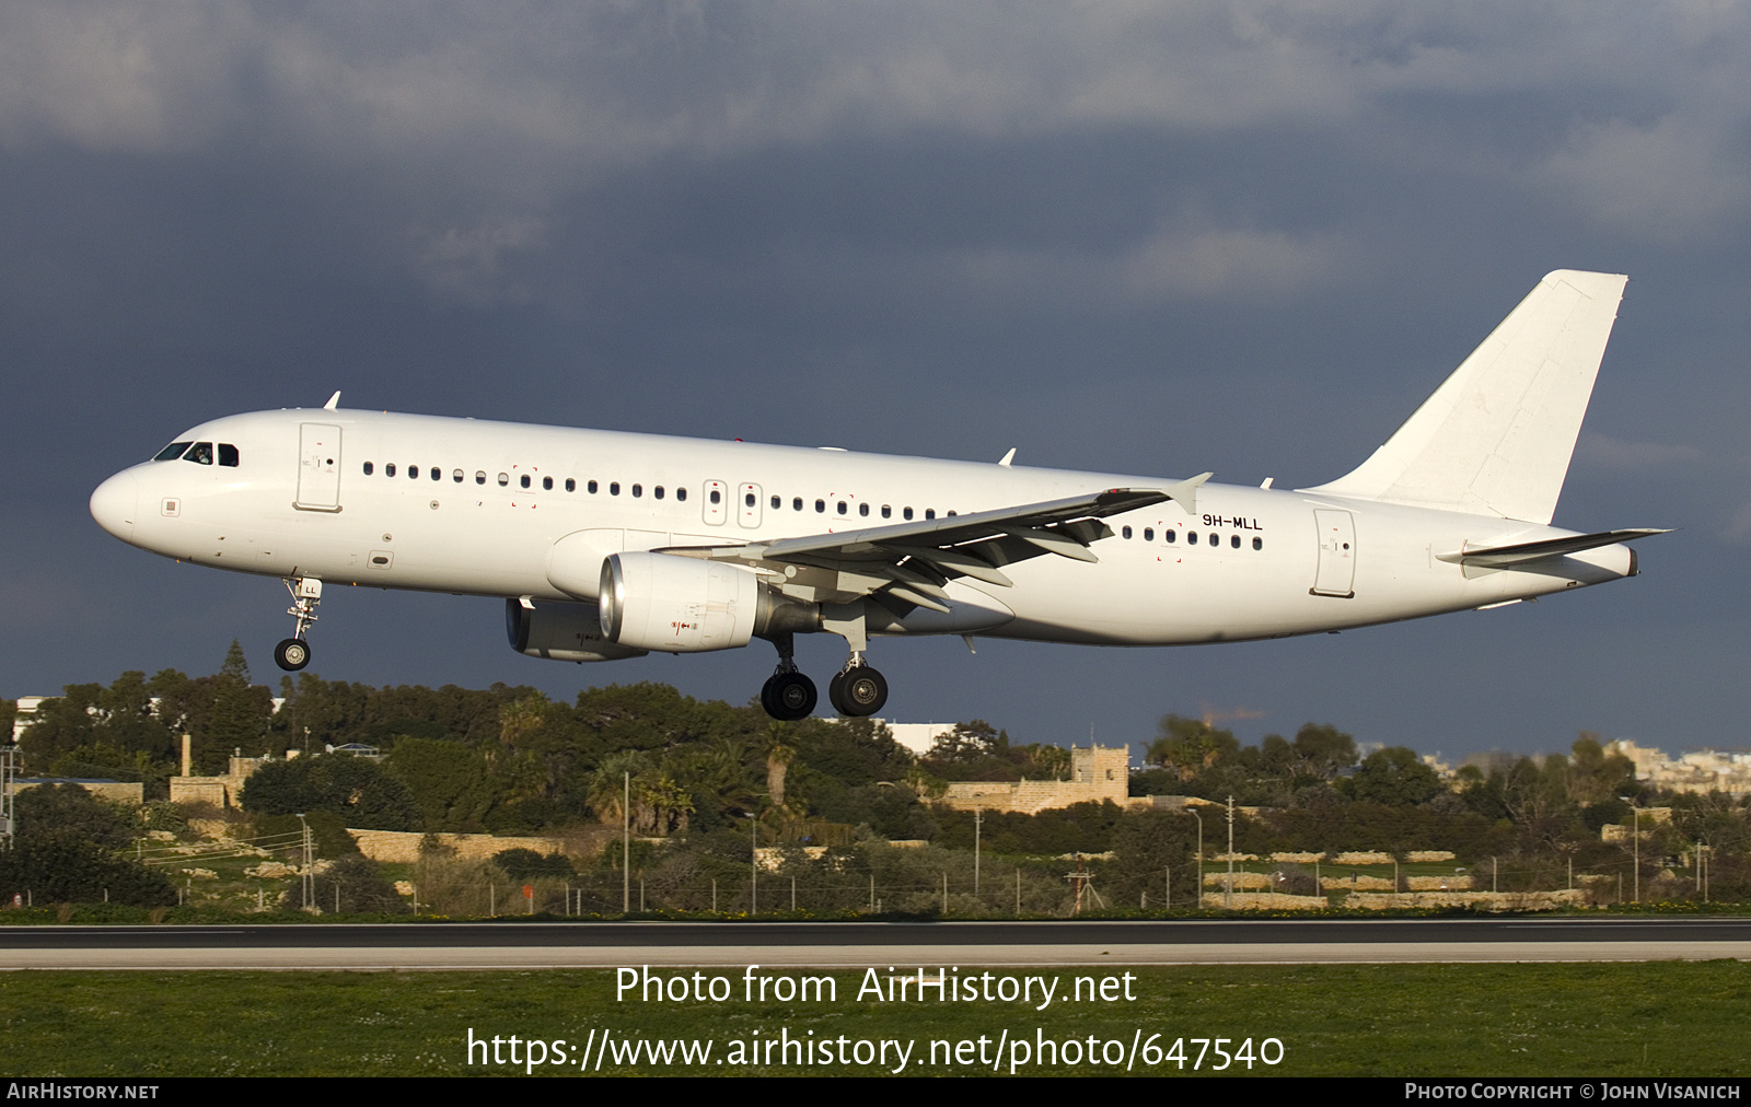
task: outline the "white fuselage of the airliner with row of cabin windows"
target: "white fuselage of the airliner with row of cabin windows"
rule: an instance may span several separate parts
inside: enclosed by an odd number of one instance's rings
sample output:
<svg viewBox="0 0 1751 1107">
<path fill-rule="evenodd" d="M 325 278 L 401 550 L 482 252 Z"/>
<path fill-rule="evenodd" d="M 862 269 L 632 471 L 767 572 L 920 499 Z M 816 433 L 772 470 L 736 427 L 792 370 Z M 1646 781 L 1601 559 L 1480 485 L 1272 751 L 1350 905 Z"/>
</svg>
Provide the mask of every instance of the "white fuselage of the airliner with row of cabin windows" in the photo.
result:
<svg viewBox="0 0 1751 1107">
<path fill-rule="evenodd" d="M 233 415 L 177 440 L 235 447 L 238 464 L 172 459 L 117 473 L 93 494 L 107 531 L 238 573 L 546 601 L 595 599 L 550 580 L 555 543 L 567 536 L 608 555 L 1173 483 L 352 410 Z M 1439 555 L 1574 531 L 1220 483 L 1199 489 L 1196 513 L 1168 501 L 1107 525 L 1114 536 L 1093 546 L 1098 564 L 1038 557 L 1005 568 L 1009 589 L 951 582 L 956 611 L 968 611 L 953 625 L 921 613 L 919 632 L 1122 646 L 1243 641 L 1532 599 L 1634 571 L 1628 546 L 1611 545 L 1541 573 L 1467 576 Z"/>
</svg>

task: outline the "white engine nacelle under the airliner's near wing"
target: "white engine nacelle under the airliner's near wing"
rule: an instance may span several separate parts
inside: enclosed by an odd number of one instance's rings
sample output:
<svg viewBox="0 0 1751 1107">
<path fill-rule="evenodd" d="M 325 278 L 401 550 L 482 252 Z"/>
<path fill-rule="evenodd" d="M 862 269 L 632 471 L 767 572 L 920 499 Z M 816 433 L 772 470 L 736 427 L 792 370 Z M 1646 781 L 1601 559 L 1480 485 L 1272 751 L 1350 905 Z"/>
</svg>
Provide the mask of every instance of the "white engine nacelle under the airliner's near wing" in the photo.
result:
<svg viewBox="0 0 1751 1107">
<path fill-rule="evenodd" d="M 746 646 L 767 629 L 774 610 L 774 597 L 749 569 L 672 554 L 609 555 L 601 597 L 608 641 L 664 653 Z"/>
</svg>

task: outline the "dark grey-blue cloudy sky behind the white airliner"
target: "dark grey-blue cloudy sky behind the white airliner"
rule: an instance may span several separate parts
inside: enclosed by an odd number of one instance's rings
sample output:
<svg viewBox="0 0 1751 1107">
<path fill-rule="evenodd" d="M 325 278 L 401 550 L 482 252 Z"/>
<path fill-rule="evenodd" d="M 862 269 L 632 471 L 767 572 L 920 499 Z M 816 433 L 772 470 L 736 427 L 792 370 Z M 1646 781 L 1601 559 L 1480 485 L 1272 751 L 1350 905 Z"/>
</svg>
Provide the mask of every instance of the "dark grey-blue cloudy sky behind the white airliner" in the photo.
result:
<svg viewBox="0 0 1751 1107">
<path fill-rule="evenodd" d="M 278 582 L 86 497 L 201 419 L 355 406 L 1278 485 L 1378 445 L 1553 268 L 1632 277 L 1557 522 L 1667 525 L 1541 604 L 1201 650 L 884 643 L 909 720 L 1164 711 L 1464 753 L 1739 746 L 1742 4 L 285 5 L 0 12 L 0 694 L 257 680 Z M 573 667 L 490 601 L 336 594 L 315 671 Z M 805 664 L 825 676 L 837 639 Z"/>
</svg>

